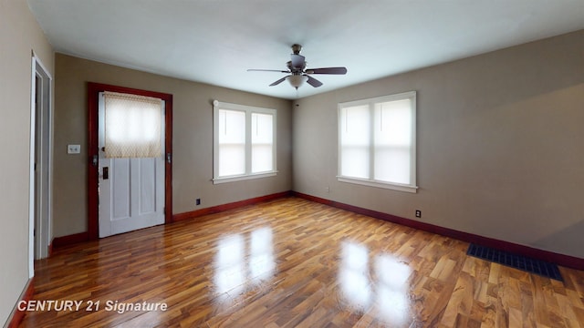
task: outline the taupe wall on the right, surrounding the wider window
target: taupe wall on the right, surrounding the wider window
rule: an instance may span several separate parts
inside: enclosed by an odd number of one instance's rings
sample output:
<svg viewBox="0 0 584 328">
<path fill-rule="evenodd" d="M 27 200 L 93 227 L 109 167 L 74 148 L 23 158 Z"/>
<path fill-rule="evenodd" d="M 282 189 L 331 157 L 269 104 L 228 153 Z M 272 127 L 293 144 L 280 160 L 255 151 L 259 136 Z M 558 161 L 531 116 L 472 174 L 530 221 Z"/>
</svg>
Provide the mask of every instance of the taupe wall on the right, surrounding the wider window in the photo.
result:
<svg viewBox="0 0 584 328">
<path fill-rule="evenodd" d="M 300 99 L 294 190 L 584 258 L 583 49 L 579 31 Z M 410 90 L 418 193 L 338 182 L 337 104 Z"/>
</svg>

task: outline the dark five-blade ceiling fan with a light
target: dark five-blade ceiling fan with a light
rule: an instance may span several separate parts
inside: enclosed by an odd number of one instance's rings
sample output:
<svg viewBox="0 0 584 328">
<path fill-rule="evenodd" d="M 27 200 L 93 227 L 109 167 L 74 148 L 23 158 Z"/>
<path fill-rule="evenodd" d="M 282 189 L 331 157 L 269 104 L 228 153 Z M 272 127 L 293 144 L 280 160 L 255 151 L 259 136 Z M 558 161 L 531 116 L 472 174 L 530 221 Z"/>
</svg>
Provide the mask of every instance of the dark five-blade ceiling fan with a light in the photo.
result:
<svg viewBox="0 0 584 328">
<path fill-rule="evenodd" d="M 318 81 L 318 79 L 314 77 L 310 77 L 309 76 L 310 74 L 336 74 L 336 75 L 347 74 L 346 67 L 307 68 L 307 62 L 305 60 L 305 57 L 300 55 L 300 50 L 302 50 L 302 46 L 292 45 L 292 54 L 290 54 L 290 61 L 287 62 L 288 67 L 287 70 L 248 69 L 247 71 L 287 73 L 288 75 L 286 77 L 282 77 L 276 80 L 274 83 L 270 85 L 270 87 L 277 86 L 287 79 L 290 85 L 292 87 L 295 87 L 296 89 L 302 86 L 304 82 L 307 82 L 312 87 L 322 86 L 322 82 Z"/>
</svg>

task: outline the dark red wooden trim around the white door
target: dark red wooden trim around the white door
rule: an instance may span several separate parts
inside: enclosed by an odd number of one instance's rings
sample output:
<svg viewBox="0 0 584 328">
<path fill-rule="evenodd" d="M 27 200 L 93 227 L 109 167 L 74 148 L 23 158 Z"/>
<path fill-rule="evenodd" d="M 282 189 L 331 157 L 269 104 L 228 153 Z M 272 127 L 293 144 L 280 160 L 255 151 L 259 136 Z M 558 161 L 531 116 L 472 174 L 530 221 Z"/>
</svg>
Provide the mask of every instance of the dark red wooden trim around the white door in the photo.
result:
<svg viewBox="0 0 584 328">
<path fill-rule="evenodd" d="M 93 164 L 97 159 L 98 146 L 98 101 L 99 92 L 111 91 L 132 95 L 157 97 L 164 100 L 164 223 L 172 221 L 172 95 L 130 87 L 110 86 L 88 82 L 88 238 L 99 239 L 99 165 Z M 170 156 L 170 158 L 169 158 Z M 170 160 L 167 160 L 170 159 Z"/>
</svg>

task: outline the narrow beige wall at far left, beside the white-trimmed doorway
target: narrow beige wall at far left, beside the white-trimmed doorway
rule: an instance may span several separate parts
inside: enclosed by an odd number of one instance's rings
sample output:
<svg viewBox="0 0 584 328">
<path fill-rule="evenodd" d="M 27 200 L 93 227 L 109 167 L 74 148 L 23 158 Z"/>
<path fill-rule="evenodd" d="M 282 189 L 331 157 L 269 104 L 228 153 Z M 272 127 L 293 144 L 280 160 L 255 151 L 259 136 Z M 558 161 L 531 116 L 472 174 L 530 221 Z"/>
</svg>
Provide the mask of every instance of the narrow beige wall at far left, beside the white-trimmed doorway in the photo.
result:
<svg viewBox="0 0 584 328">
<path fill-rule="evenodd" d="M 26 1 L 0 0 L 0 324 L 28 281 L 31 54 L 53 74 L 53 50 Z"/>
</svg>

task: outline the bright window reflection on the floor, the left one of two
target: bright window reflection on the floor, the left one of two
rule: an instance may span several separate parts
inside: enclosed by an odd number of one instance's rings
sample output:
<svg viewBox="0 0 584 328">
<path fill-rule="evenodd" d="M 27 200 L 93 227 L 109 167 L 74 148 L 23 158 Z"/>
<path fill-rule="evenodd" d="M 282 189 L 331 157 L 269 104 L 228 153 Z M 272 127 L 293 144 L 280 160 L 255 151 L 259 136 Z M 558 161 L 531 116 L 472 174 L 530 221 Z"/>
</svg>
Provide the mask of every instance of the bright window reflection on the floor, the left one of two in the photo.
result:
<svg viewBox="0 0 584 328">
<path fill-rule="evenodd" d="M 214 258 L 214 294 L 227 308 L 248 290 L 269 282 L 276 270 L 272 229 L 232 234 L 217 242 Z"/>
</svg>

